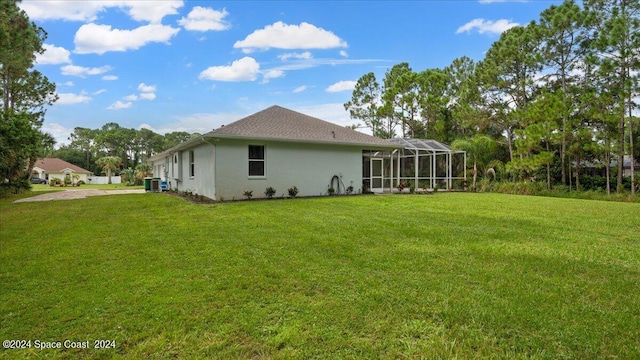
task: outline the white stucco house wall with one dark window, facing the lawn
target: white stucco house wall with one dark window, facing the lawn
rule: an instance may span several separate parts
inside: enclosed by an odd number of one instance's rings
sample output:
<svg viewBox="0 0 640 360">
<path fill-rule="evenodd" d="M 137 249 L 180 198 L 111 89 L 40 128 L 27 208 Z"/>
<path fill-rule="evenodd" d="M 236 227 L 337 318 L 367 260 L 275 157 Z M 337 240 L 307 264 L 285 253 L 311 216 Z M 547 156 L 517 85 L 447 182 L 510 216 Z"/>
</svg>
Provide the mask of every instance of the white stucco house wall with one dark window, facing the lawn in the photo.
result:
<svg viewBox="0 0 640 360">
<path fill-rule="evenodd" d="M 265 146 L 265 177 L 249 177 L 249 145 Z M 220 139 L 216 155 L 217 200 L 244 199 L 245 191 L 253 191 L 253 198 L 265 197 L 269 186 L 276 190 L 274 197 L 288 196 L 292 186 L 298 196 L 326 195 L 334 175 L 341 176 L 343 191 L 350 185 L 354 192 L 362 188 L 359 147 Z"/>
</svg>

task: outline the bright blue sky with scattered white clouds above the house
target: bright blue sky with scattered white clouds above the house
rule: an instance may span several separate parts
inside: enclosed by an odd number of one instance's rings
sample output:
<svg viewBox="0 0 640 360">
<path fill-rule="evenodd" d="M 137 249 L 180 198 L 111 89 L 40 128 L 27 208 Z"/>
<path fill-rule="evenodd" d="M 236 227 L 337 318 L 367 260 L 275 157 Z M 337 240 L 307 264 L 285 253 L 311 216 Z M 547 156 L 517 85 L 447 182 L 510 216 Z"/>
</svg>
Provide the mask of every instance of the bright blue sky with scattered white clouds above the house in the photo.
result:
<svg viewBox="0 0 640 360">
<path fill-rule="evenodd" d="M 554 0 L 23 0 L 48 36 L 35 68 L 57 85 L 43 131 L 206 133 L 272 105 L 331 121 L 358 78 L 393 65 L 483 59 L 500 34 Z M 366 132 L 365 129 L 362 129 Z"/>
</svg>

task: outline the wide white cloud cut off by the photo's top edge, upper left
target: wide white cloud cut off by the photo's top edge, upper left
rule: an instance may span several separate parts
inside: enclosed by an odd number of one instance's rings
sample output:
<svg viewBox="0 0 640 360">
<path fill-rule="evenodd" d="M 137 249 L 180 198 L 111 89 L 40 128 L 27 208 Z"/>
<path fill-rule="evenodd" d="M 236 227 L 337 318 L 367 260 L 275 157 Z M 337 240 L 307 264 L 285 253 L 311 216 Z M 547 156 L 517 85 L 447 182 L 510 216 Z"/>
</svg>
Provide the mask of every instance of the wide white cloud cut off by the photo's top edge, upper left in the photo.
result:
<svg viewBox="0 0 640 360">
<path fill-rule="evenodd" d="M 19 3 L 31 20 L 95 21 L 109 8 L 124 9 L 136 21 L 159 23 L 167 15 L 175 15 L 184 5 L 182 0 L 163 1 L 61 1 L 25 0 Z"/>
</svg>

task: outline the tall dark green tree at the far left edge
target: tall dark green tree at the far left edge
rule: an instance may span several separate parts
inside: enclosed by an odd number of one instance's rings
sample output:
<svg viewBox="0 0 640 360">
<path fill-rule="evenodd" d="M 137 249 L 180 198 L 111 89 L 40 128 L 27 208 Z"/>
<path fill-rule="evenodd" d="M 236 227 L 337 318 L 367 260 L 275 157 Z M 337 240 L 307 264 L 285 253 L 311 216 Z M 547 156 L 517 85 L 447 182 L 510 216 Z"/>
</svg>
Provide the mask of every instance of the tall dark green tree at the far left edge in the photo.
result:
<svg viewBox="0 0 640 360">
<path fill-rule="evenodd" d="M 42 155 L 49 143 L 40 131 L 45 106 L 57 100 L 55 85 L 33 69 L 36 55 L 44 52 L 46 33 L 17 3 L 0 1 L 0 144 L 11 144 L 2 150 L 10 155 L 2 166 L 9 167 L 0 172 L 9 182 L 28 178 Z"/>
</svg>

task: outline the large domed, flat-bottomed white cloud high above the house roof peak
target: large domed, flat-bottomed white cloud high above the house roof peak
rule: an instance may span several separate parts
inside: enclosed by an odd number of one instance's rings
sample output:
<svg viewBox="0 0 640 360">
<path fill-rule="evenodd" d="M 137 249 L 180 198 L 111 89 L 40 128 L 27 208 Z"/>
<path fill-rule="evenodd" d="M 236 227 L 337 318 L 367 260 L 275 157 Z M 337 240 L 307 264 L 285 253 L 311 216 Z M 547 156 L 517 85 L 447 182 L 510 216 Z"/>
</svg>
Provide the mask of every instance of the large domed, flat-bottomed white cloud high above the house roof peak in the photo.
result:
<svg viewBox="0 0 640 360">
<path fill-rule="evenodd" d="M 287 25 L 278 21 L 249 34 L 244 40 L 236 41 L 234 48 L 250 53 L 256 49 L 331 49 L 347 47 L 347 42 L 334 33 L 303 22 Z"/>
</svg>

